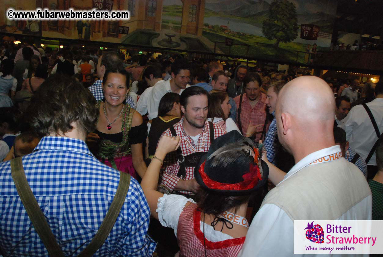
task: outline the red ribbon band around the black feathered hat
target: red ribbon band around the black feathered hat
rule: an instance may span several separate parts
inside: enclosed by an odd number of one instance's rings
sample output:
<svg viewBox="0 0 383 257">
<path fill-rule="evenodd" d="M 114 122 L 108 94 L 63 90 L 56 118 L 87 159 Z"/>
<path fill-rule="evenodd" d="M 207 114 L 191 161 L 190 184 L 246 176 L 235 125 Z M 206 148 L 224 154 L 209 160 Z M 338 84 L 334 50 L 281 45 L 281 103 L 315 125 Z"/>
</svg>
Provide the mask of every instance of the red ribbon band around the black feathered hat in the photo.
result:
<svg viewBox="0 0 383 257">
<path fill-rule="evenodd" d="M 200 168 L 198 169 L 198 172 L 201 175 L 203 183 L 208 188 L 211 189 L 219 189 L 219 190 L 248 190 L 251 188 L 254 188 L 259 180 L 262 180 L 262 176 L 260 174 L 259 167 L 257 165 L 250 164 L 250 172 L 246 173 L 242 176 L 244 181 L 235 183 L 235 184 L 229 184 L 229 183 L 220 183 L 217 181 L 212 180 L 209 178 L 209 176 L 205 173 L 205 163 L 204 161 Z"/>
</svg>

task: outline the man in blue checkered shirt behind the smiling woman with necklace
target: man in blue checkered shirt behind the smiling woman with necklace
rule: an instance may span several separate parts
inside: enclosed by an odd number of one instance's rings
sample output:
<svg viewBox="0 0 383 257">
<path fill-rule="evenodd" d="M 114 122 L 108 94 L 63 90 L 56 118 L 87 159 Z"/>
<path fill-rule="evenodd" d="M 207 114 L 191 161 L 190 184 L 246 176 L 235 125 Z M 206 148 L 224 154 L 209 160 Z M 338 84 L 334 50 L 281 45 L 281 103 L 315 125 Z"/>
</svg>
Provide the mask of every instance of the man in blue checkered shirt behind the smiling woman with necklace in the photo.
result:
<svg viewBox="0 0 383 257">
<path fill-rule="evenodd" d="M 119 58 L 117 53 L 106 52 L 98 58 L 97 77 L 99 79 L 95 81 L 92 86 L 88 87 L 97 101 L 104 98 L 104 93 L 102 92 L 102 79 L 105 71 L 108 69 L 121 70 L 123 68 L 123 61 Z M 130 107 L 136 109 L 136 104 L 131 96 L 126 96 L 126 102 L 130 105 Z"/>
</svg>

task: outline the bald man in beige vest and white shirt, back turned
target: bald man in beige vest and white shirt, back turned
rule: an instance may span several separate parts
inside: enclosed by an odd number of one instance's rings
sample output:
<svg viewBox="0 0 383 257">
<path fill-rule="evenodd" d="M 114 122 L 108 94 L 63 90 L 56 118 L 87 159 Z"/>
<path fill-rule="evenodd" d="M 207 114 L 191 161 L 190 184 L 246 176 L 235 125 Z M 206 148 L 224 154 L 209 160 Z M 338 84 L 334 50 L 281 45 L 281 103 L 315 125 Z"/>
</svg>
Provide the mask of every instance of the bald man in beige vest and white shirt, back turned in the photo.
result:
<svg viewBox="0 0 383 257">
<path fill-rule="evenodd" d="M 296 164 L 286 174 L 268 163 L 276 187 L 262 202 L 238 256 L 300 256 L 293 255 L 294 220 L 371 219 L 367 181 L 335 145 L 334 110 L 332 91 L 318 77 L 297 77 L 281 89 L 278 139 Z"/>
</svg>

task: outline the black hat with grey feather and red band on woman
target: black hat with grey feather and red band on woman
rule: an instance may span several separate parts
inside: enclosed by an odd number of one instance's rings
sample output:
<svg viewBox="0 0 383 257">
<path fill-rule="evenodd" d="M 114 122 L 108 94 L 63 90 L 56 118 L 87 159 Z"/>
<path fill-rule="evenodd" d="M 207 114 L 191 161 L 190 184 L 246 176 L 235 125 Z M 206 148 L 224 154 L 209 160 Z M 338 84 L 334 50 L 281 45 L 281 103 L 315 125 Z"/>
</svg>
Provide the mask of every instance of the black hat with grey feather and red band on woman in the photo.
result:
<svg viewBox="0 0 383 257">
<path fill-rule="evenodd" d="M 232 130 L 213 141 L 195 167 L 194 177 L 208 191 L 241 196 L 265 185 L 268 166 L 252 140 Z"/>
</svg>

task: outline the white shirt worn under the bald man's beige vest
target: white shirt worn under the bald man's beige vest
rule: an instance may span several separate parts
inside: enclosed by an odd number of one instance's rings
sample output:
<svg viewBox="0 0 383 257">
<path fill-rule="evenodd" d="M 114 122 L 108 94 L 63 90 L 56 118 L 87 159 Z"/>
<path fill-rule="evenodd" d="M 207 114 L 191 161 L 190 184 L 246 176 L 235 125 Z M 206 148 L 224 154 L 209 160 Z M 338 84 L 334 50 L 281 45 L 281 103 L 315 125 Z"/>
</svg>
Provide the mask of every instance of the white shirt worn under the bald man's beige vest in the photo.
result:
<svg viewBox="0 0 383 257">
<path fill-rule="evenodd" d="M 309 163 L 334 152 L 340 152 L 340 147 L 338 145 L 324 148 L 304 157 L 302 160 L 298 161 L 293 168 L 291 168 L 277 187 L 280 186 L 280 184 L 283 184 L 284 181 L 290 179 L 292 175 L 308 166 Z M 363 214 L 361 213 L 364 213 L 366 208 L 370 207 L 371 201 L 371 197 L 363 199 L 359 203 L 355 204 L 346 213 L 342 214 L 342 216 L 340 216 L 337 220 L 354 220 L 355 217 L 362 217 Z M 281 203 L 281 206 L 283 206 L 283 203 Z M 371 210 L 369 215 L 371 219 Z M 368 217 L 365 219 L 368 219 Z M 246 240 L 241 252 L 238 254 L 238 257 L 304 256 L 303 254 L 293 254 L 293 231 L 294 221 L 290 219 L 282 208 L 275 204 L 264 204 L 264 206 L 262 206 L 255 215 L 249 227 Z M 282 237 L 281 234 L 283 234 Z M 322 257 L 324 255 L 309 256 Z M 342 255 L 334 254 L 334 256 Z M 348 257 L 349 255 L 344 256 Z"/>
</svg>

